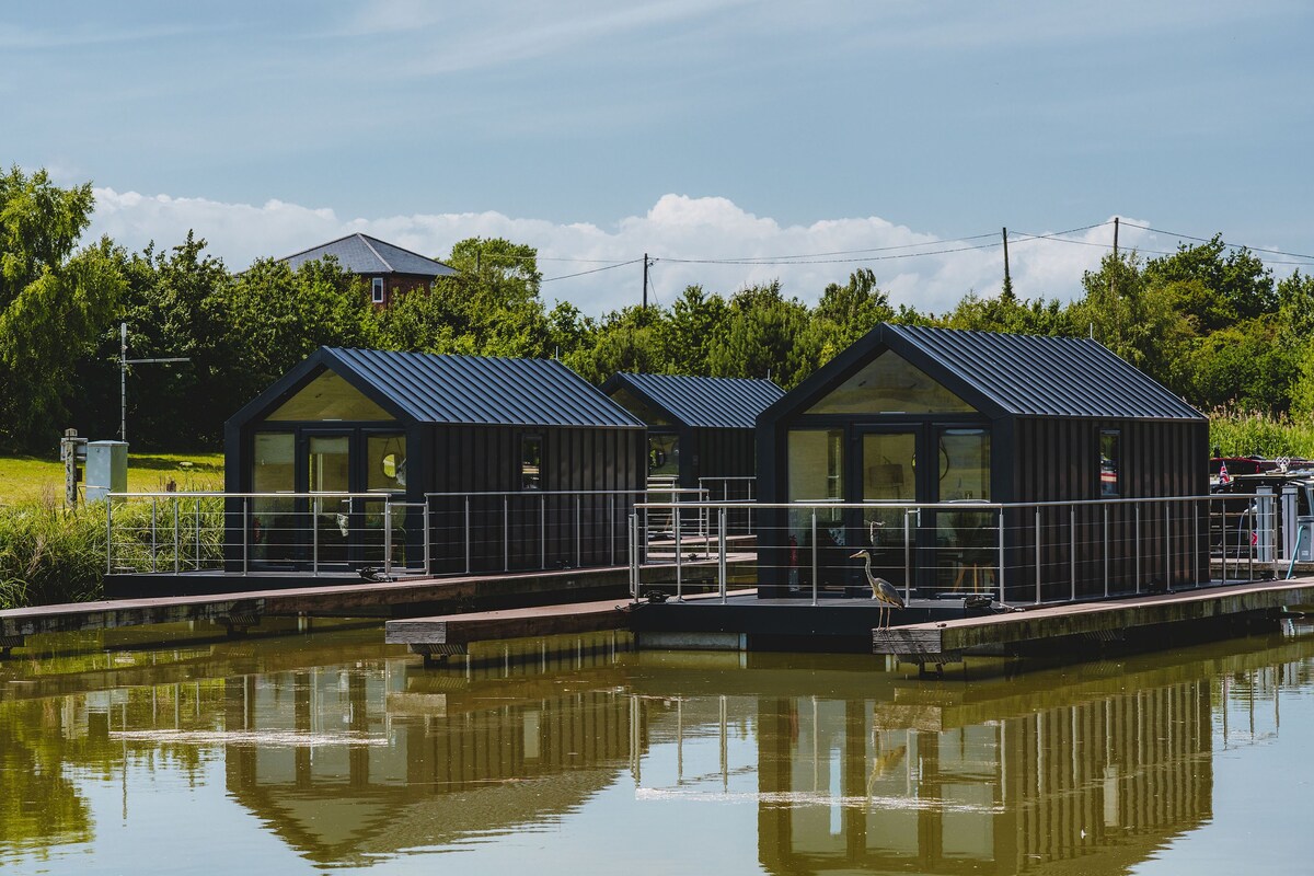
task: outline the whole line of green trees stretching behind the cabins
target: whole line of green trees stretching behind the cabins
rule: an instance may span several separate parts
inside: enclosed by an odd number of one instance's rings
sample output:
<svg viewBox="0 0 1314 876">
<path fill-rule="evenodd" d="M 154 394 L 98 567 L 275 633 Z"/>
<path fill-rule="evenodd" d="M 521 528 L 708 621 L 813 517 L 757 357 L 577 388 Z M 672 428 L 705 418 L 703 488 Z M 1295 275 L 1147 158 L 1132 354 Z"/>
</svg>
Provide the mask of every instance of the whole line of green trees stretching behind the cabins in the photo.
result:
<svg viewBox="0 0 1314 876">
<path fill-rule="evenodd" d="M 118 435 L 120 323 L 134 449 L 202 449 L 223 420 L 319 345 L 556 357 L 594 383 L 618 370 L 769 377 L 790 389 L 879 322 L 1092 336 L 1201 410 L 1314 416 L 1314 278 L 1275 280 L 1219 236 L 1146 259 L 1106 255 L 1074 301 L 968 290 L 945 313 L 895 306 L 867 268 L 815 305 L 779 281 L 728 294 L 694 285 L 669 306 L 600 318 L 548 306 L 536 251 L 469 238 L 456 268 L 386 310 L 334 260 L 233 272 L 191 231 L 167 248 L 83 243 L 91 185 L 0 176 L 0 449 L 49 453 L 67 427 Z"/>
</svg>

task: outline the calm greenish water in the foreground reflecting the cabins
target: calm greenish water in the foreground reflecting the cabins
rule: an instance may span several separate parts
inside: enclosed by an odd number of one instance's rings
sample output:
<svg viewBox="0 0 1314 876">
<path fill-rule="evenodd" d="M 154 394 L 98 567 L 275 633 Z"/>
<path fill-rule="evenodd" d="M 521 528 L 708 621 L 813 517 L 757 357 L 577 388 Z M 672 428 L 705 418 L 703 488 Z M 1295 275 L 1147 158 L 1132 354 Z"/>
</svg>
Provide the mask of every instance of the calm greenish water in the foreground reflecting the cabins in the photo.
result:
<svg viewBox="0 0 1314 876">
<path fill-rule="evenodd" d="M 966 680 L 381 641 L 0 665 L 0 872 L 1314 871 L 1306 628 Z"/>
</svg>

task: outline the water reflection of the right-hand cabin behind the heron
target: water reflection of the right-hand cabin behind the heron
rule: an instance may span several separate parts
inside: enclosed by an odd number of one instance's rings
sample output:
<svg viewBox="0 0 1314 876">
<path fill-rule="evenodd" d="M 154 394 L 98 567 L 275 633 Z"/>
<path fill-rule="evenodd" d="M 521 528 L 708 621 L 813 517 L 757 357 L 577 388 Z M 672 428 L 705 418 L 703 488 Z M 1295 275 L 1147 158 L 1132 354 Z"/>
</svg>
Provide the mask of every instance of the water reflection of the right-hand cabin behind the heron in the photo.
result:
<svg viewBox="0 0 1314 876">
<path fill-rule="evenodd" d="M 1212 817 L 1213 760 L 1208 679 L 1122 682 L 1133 692 L 1000 683 L 975 701 L 924 687 L 874 707 L 763 701 L 762 795 L 850 801 L 762 806 L 763 865 L 1017 873 L 1080 859 L 1085 873 L 1123 872 Z M 833 758 L 821 770 L 817 751 Z"/>
</svg>

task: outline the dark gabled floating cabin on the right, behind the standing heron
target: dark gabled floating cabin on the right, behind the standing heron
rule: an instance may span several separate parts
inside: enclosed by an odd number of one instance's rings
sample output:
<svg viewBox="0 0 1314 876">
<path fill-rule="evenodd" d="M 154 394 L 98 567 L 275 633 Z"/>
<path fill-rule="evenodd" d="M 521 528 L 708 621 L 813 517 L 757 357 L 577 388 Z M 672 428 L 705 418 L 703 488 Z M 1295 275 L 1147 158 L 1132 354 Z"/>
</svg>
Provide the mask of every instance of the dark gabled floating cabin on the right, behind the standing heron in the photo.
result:
<svg viewBox="0 0 1314 876">
<path fill-rule="evenodd" d="M 821 586 L 857 583 L 848 554 L 869 548 L 876 574 L 932 595 L 954 590 L 964 566 L 997 582 L 997 517 L 968 503 L 1204 496 L 1208 429 L 1093 340 L 882 324 L 762 414 L 758 487 L 763 502 L 964 503 L 922 512 L 911 554 L 899 511 L 846 511 L 820 525 Z M 1042 533 L 1063 537 L 1041 538 L 1039 570 L 1035 510 L 1008 508 L 1009 599 L 1030 602 L 1037 580 L 1041 599 L 1068 598 L 1074 567 L 1079 598 L 1102 596 L 1106 570 L 1110 592 L 1130 592 L 1208 569 L 1206 521 L 1184 506 L 1141 506 L 1077 507 L 1075 538 L 1068 507 L 1043 508 Z M 800 517 L 763 512 L 759 595 L 808 583 L 811 569 L 794 567 L 809 566 L 798 561 L 811 556 Z"/>
</svg>

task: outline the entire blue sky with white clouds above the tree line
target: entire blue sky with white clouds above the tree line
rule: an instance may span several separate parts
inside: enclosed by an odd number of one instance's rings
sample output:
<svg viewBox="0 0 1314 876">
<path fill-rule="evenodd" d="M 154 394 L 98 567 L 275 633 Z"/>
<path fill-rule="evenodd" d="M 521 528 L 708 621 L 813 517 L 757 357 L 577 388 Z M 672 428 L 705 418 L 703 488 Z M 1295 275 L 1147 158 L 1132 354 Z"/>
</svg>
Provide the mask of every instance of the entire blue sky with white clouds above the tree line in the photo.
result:
<svg viewBox="0 0 1314 876">
<path fill-rule="evenodd" d="M 234 271 L 363 231 L 537 247 L 551 306 L 870 268 L 1068 299 L 1113 244 L 1314 269 L 1314 4 L 45 3 L 0 9 L 0 163 L 87 240 Z M 1268 252 L 1272 251 L 1272 252 Z"/>
</svg>

